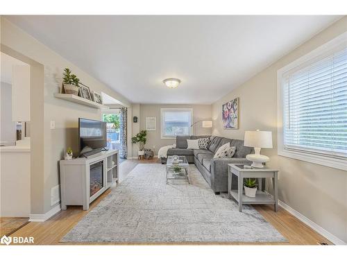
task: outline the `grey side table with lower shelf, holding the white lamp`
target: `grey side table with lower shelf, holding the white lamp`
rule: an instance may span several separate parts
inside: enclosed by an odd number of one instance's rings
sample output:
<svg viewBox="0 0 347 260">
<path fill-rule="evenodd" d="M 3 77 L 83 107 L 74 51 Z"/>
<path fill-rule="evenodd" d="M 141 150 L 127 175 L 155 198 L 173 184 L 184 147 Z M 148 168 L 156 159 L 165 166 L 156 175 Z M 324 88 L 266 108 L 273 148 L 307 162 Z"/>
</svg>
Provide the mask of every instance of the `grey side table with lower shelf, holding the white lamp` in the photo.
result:
<svg viewBox="0 0 347 260">
<path fill-rule="evenodd" d="M 228 194 L 229 198 L 234 198 L 239 203 L 239 211 L 242 212 L 242 205 L 249 204 L 270 204 L 274 205 L 275 211 L 278 209 L 278 170 L 271 168 L 244 168 L 244 165 L 251 164 L 228 164 Z M 232 190 L 232 175 L 237 176 L 238 189 Z M 244 195 L 244 178 L 257 178 L 258 190 L 255 198 L 250 198 Z M 262 179 L 270 177 L 273 183 L 273 189 L 275 191 L 274 196 L 270 196 L 264 192 L 262 187 Z"/>
</svg>

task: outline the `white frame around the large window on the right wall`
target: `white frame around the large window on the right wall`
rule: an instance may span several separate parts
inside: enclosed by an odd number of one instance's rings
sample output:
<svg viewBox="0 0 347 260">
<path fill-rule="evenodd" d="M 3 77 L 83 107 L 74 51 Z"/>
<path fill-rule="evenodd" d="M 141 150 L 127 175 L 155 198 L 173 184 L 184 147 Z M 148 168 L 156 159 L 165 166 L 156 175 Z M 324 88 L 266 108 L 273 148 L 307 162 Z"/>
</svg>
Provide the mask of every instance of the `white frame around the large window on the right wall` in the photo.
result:
<svg viewBox="0 0 347 260">
<path fill-rule="evenodd" d="M 327 57 L 328 55 L 331 55 L 332 53 L 334 53 L 335 51 L 338 51 L 339 49 L 346 48 L 346 46 L 347 46 L 347 33 L 343 33 L 339 35 L 338 37 L 335 37 L 335 39 L 331 40 L 330 42 L 327 42 L 323 44 L 322 46 L 319 46 L 319 48 L 314 49 L 314 51 L 311 51 L 310 53 L 303 55 L 301 58 L 294 60 L 294 62 L 287 64 L 287 66 L 282 67 L 281 69 L 277 71 L 278 155 L 289 157 L 292 159 L 299 159 L 304 162 L 311 162 L 314 164 L 328 166 L 331 168 L 338 168 L 340 170 L 347 171 L 347 160 L 341 157 L 330 157 L 327 155 L 314 154 L 314 153 L 310 153 L 309 150 L 305 151 L 304 149 L 294 150 L 294 149 L 285 148 L 285 144 L 283 140 L 284 139 L 284 129 L 283 129 L 284 96 L 283 96 L 283 89 L 282 89 L 282 78 L 286 73 L 288 73 L 289 71 L 297 67 L 307 67 L 309 64 L 322 60 L 323 58 Z"/>
</svg>

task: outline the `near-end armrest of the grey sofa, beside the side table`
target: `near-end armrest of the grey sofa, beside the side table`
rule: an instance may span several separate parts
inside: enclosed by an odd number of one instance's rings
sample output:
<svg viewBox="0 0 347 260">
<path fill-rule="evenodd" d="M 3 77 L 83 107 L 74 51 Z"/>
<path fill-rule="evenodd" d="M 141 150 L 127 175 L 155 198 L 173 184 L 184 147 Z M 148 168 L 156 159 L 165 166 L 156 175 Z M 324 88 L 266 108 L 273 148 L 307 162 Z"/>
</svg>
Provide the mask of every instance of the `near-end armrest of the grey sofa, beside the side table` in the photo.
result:
<svg viewBox="0 0 347 260">
<path fill-rule="evenodd" d="M 213 191 L 214 192 L 228 191 L 228 164 L 249 164 L 249 163 L 251 162 L 244 157 L 211 159 L 211 188 L 213 189 Z M 234 181 L 233 181 L 233 184 L 235 184 Z"/>
</svg>

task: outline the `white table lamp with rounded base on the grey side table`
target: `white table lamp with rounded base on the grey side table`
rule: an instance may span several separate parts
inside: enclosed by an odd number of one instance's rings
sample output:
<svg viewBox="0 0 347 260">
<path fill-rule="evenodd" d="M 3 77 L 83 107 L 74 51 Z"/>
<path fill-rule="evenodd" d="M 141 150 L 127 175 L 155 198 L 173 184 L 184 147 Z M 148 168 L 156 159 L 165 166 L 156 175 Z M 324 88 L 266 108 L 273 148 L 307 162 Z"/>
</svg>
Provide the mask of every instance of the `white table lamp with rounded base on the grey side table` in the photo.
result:
<svg viewBox="0 0 347 260">
<path fill-rule="evenodd" d="M 244 146 L 254 147 L 255 154 L 246 155 L 248 161 L 253 162 L 254 168 L 264 168 L 263 163 L 269 162 L 269 157 L 260 155 L 261 148 L 272 148 L 272 132 L 270 131 L 245 131 Z"/>
</svg>

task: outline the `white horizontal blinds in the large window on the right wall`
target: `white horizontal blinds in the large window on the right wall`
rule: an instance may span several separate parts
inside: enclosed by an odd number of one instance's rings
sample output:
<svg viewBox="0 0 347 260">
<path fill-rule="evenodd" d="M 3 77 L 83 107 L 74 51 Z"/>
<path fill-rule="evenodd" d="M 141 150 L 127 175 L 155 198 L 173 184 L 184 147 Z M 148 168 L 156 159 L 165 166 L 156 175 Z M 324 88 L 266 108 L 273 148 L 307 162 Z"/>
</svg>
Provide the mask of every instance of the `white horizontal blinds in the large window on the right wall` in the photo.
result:
<svg viewBox="0 0 347 260">
<path fill-rule="evenodd" d="M 282 76 L 283 146 L 347 157 L 347 48 Z"/>
</svg>

